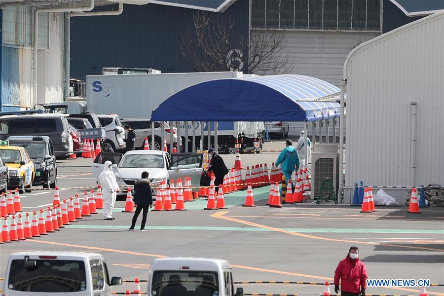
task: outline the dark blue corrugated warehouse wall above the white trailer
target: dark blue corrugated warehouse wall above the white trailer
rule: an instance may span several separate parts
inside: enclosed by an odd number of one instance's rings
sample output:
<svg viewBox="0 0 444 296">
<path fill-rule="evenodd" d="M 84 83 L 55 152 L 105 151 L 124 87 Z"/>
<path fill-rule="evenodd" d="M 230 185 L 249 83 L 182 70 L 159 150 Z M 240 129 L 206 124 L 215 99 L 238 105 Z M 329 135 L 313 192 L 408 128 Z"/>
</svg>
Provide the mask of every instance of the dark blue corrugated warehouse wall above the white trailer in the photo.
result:
<svg viewBox="0 0 444 296">
<path fill-rule="evenodd" d="M 196 72 L 181 51 L 194 12 L 158 4 L 125 4 L 119 16 L 72 18 L 71 77 L 85 79 L 88 74 L 102 74 L 103 67 Z M 223 15 L 234 21 L 236 34 L 248 39 L 248 0 L 236 1 Z"/>
</svg>

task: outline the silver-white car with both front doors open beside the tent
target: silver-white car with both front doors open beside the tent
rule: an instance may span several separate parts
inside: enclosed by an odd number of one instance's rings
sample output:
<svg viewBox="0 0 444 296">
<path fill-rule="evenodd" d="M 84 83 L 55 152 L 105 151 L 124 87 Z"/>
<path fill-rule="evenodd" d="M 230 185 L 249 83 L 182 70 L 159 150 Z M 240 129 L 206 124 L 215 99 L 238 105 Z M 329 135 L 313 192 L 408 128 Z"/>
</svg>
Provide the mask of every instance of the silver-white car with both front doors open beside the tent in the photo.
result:
<svg viewBox="0 0 444 296">
<path fill-rule="evenodd" d="M 173 153 L 171 159 L 169 153 L 160 150 L 133 150 L 124 155 L 103 152 L 94 159 L 91 169 L 99 180 L 103 164 L 110 160 L 117 183 L 123 187 L 134 185 L 144 171 L 149 173 L 148 178 L 153 186 L 159 185 L 162 181 L 167 181 L 169 184 L 169 180 L 174 180 L 176 184 L 179 178 L 182 179 L 182 185 L 185 185 L 186 177 L 191 178 L 191 186 L 199 186 L 203 156 L 202 153 Z"/>
</svg>

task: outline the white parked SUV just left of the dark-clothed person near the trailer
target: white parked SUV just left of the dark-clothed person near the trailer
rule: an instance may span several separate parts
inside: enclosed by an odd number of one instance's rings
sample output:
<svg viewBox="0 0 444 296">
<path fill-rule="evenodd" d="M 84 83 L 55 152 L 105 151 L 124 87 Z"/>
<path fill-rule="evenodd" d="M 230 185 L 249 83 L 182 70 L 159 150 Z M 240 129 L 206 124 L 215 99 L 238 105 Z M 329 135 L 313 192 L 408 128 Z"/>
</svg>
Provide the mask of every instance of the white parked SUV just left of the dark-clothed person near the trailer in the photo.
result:
<svg viewBox="0 0 444 296">
<path fill-rule="evenodd" d="M 105 128 L 106 143 L 102 144 L 104 151 L 119 151 L 125 148 L 125 129 L 117 114 L 97 115 L 100 124 Z"/>
</svg>

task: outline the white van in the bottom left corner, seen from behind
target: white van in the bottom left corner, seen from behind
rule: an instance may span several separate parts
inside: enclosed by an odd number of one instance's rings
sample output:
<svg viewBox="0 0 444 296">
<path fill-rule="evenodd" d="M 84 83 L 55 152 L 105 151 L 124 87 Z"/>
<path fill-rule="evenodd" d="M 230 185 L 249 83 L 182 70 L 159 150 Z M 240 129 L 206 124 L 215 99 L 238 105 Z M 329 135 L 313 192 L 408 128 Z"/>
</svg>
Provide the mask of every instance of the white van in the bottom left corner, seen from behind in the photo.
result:
<svg viewBox="0 0 444 296">
<path fill-rule="evenodd" d="M 9 256 L 3 296 L 111 296 L 122 279 L 103 256 L 82 252 L 21 252 Z"/>
</svg>

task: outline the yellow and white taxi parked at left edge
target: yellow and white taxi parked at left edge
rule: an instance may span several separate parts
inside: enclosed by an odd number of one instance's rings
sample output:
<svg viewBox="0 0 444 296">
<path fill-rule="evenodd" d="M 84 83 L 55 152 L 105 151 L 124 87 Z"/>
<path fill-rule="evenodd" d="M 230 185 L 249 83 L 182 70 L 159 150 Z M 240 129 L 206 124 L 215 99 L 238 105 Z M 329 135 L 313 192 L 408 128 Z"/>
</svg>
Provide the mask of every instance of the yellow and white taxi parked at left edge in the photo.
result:
<svg viewBox="0 0 444 296">
<path fill-rule="evenodd" d="M 25 148 L 9 146 L 8 141 L 0 141 L 0 156 L 8 167 L 8 188 L 31 192 L 36 170 Z"/>
</svg>

